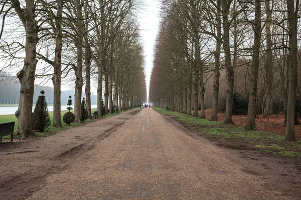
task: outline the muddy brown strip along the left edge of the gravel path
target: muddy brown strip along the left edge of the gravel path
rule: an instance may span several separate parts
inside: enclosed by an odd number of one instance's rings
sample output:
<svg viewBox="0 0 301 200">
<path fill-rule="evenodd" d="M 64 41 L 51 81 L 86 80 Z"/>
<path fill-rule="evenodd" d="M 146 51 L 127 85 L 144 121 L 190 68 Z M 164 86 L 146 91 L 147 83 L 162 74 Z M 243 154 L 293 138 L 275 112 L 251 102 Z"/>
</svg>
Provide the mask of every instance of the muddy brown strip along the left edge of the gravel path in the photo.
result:
<svg viewBox="0 0 301 200">
<path fill-rule="evenodd" d="M 0 199 L 26 199 L 47 184 L 49 175 L 66 169 L 138 111 L 97 119 L 47 137 L 0 144 Z"/>
</svg>

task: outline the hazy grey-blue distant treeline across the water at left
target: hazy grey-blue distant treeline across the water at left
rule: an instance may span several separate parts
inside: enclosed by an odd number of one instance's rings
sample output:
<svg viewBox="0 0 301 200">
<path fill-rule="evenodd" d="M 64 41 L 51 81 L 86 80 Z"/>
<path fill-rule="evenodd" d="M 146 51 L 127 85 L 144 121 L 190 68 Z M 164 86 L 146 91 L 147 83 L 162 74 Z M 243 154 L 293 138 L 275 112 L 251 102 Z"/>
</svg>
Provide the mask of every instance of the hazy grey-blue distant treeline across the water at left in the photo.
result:
<svg viewBox="0 0 301 200">
<path fill-rule="evenodd" d="M 53 104 L 53 88 L 41 85 L 35 85 L 34 103 L 37 102 L 40 91 L 45 91 L 45 96 L 48 104 Z M 74 90 L 61 91 L 61 103 L 67 104 L 68 96 L 74 96 Z M 82 97 L 85 93 L 82 92 Z M 4 83 L 0 82 L 0 103 L 19 103 L 20 99 L 20 83 Z M 91 104 L 96 104 L 97 96 L 91 94 Z"/>
</svg>

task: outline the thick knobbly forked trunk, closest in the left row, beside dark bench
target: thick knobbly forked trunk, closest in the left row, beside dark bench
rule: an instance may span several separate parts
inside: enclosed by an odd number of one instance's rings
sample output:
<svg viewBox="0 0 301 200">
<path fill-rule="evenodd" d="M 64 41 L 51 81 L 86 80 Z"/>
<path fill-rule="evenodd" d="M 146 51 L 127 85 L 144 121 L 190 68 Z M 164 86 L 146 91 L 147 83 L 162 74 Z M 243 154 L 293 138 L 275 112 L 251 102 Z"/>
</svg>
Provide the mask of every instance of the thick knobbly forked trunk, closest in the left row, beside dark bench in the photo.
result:
<svg viewBox="0 0 301 200">
<path fill-rule="evenodd" d="M 12 6 L 15 8 L 24 25 L 26 31 L 26 43 L 24 66 L 17 73 L 17 77 L 19 78 L 21 84 L 21 89 L 19 107 L 16 111 L 18 127 L 15 135 L 21 135 L 21 139 L 25 139 L 28 136 L 36 135 L 32 129 L 31 116 L 33 112 L 35 72 L 37 66 L 36 49 L 39 37 L 35 13 L 35 1 L 26 0 L 25 8 L 20 7 L 19 0 L 17 2 L 18 3 L 13 3 Z"/>
</svg>

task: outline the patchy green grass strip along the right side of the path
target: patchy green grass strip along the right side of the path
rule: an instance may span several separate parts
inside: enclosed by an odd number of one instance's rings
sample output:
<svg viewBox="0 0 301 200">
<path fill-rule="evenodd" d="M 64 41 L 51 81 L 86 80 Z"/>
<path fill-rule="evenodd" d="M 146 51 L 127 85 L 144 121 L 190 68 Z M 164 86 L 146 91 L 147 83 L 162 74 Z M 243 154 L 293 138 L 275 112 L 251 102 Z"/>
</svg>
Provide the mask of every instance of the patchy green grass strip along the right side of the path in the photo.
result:
<svg viewBox="0 0 301 200">
<path fill-rule="evenodd" d="M 259 130 L 246 130 L 242 126 L 225 124 L 220 121 L 201 119 L 164 108 L 153 107 L 156 111 L 171 116 L 188 128 L 197 130 L 200 136 L 222 144 L 269 152 L 275 155 L 301 158 L 301 141 L 289 142 L 284 136 Z"/>
</svg>

